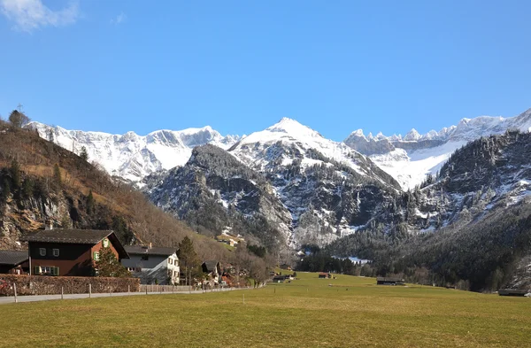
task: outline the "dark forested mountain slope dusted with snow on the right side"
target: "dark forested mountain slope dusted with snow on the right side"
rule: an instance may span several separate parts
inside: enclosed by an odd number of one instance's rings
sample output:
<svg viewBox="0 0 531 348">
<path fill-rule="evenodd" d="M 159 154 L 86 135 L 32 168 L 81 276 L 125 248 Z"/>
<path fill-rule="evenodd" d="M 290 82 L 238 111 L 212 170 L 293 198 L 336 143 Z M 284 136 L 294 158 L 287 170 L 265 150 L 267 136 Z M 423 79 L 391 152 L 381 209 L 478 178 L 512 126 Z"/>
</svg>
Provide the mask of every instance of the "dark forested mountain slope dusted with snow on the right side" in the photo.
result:
<svg viewBox="0 0 531 348">
<path fill-rule="evenodd" d="M 497 290 L 531 283 L 531 133 L 491 135 L 450 156 L 439 177 L 397 200 L 401 213 L 329 246 L 373 259 L 379 273 Z M 401 202 L 401 200 L 403 202 Z M 389 218 L 389 216 L 387 216 Z M 418 280 L 418 279 L 417 279 Z M 424 278 L 424 281 L 428 281 Z"/>
</svg>

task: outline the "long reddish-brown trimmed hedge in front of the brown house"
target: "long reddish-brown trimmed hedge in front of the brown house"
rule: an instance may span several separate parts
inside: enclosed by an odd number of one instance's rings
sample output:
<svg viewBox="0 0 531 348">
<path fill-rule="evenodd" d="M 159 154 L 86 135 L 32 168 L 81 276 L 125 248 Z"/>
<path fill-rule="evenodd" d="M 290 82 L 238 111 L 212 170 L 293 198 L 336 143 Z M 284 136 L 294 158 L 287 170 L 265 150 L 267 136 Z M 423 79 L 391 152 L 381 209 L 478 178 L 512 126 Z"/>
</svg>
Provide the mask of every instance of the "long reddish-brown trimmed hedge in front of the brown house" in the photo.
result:
<svg viewBox="0 0 531 348">
<path fill-rule="evenodd" d="M 0 296 L 13 296 L 13 284 L 17 284 L 17 295 L 57 295 L 61 288 L 65 294 L 87 294 L 89 284 L 93 293 L 140 290 L 138 278 L 0 275 Z"/>
</svg>

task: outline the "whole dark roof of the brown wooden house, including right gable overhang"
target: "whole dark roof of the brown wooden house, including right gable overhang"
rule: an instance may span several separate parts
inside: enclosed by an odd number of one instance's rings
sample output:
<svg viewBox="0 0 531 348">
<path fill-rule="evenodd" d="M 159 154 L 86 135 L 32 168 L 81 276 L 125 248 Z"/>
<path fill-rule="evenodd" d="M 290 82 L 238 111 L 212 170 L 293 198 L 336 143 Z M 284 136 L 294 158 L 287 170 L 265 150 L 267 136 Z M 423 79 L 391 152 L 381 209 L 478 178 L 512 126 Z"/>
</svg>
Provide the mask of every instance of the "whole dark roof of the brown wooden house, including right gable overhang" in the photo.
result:
<svg viewBox="0 0 531 348">
<path fill-rule="evenodd" d="M 120 259 L 129 259 L 127 251 L 119 242 L 112 230 L 104 229 L 73 229 L 54 228 L 42 229 L 33 235 L 27 236 L 27 242 L 61 243 L 61 244 L 98 244 L 102 239 L 109 238 L 114 249 L 118 251 Z"/>
</svg>

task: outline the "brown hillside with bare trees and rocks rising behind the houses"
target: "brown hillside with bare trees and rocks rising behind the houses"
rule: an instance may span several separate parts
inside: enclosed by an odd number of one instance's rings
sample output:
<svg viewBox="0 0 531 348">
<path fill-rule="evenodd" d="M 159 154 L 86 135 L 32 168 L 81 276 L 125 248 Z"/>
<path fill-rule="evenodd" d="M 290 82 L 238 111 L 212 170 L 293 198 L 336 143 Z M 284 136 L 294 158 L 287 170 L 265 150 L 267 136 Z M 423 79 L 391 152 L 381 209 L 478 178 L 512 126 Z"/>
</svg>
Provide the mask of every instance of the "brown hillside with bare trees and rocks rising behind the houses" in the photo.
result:
<svg viewBox="0 0 531 348">
<path fill-rule="evenodd" d="M 141 192 L 37 132 L 0 122 L 0 249 L 24 249 L 23 236 L 46 220 L 60 228 L 113 229 L 122 243 L 177 247 L 189 236 L 200 259 L 260 266 L 245 248 L 235 253 L 162 212 Z M 243 266 L 243 265 L 242 265 Z"/>
</svg>

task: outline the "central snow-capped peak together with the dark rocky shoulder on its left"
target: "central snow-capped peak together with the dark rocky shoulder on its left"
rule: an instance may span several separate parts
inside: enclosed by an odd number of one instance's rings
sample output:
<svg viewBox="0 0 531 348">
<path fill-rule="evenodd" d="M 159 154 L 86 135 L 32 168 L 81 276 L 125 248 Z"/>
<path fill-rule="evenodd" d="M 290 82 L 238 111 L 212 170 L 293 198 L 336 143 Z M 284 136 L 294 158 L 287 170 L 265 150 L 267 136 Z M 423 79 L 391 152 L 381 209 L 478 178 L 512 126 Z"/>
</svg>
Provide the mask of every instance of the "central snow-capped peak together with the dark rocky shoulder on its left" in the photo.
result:
<svg viewBox="0 0 531 348">
<path fill-rule="evenodd" d="M 286 118 L 228 151 L 196 148 L 185 166 L 147 183 L 157 205 L 193 225 L 220 232 L 238 229 L 241 217 L 261 219 L 292 246 L 325 245 L 354 233 L 400 190 L 370 159 Z"/>
</svg>

